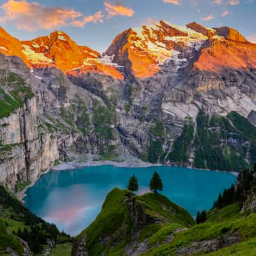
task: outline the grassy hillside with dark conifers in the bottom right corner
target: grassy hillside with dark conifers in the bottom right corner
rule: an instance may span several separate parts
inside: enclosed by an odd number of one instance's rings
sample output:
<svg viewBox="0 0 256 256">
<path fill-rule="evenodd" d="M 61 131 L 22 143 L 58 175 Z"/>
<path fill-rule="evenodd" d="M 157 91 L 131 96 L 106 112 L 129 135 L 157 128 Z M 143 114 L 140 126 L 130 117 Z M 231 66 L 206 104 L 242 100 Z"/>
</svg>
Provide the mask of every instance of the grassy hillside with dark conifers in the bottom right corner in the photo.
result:
<svg viewBox="0 0 256 256">
<path fill-rule="evenodd" d="M 255 186 L 256 166 L 240 173 L 236 186 L 225 189 L 204 223 L 141 255 L 254 255 Z"/>
</svg>

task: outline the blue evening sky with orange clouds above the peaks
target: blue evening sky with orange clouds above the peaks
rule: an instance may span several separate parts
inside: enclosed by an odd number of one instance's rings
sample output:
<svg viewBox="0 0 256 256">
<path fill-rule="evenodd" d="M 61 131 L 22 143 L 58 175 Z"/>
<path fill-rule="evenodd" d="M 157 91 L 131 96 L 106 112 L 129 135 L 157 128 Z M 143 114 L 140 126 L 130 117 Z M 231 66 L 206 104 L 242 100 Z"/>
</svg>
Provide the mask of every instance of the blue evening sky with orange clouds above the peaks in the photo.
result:
<svg viewBox="0 0 256 256">
<path fill-rule="evenodd" d="M 61 30 L 99 52 L 125 29 L 159 20 L 230 26 L 256 42 L 256 0 L 0 0 L 0 26 L 20 40 Z"/>
</svg>

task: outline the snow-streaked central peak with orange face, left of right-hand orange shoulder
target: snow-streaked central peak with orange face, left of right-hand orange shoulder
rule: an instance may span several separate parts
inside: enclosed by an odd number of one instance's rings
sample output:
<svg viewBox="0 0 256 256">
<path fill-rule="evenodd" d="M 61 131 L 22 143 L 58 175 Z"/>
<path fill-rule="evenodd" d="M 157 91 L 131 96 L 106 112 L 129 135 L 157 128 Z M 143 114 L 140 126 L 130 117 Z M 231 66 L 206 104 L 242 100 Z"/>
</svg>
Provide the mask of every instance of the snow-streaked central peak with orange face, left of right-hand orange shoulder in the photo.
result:
<svg viewBox="0 0 256 256">
<path fill-rule="evenodd" d="M 113 61 L 118 65 L 123 65 L 127 74 L 139 78 L 150 77 L 170 61 L 174 61 L 176 67 L 180 61 L 186 61 L 183 56 L 188 54 L 184 52 L 191 49 L 199 51 L 209 38 L 200 29 L 197 30 L 161 20 L 120 33 L 106 54 L 113 56 Z"/>
</svg>

